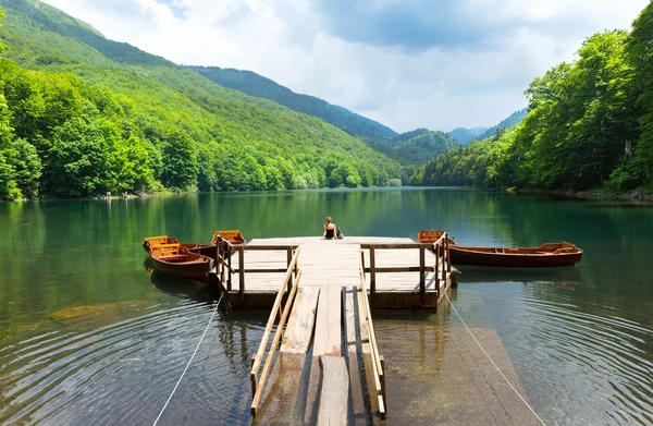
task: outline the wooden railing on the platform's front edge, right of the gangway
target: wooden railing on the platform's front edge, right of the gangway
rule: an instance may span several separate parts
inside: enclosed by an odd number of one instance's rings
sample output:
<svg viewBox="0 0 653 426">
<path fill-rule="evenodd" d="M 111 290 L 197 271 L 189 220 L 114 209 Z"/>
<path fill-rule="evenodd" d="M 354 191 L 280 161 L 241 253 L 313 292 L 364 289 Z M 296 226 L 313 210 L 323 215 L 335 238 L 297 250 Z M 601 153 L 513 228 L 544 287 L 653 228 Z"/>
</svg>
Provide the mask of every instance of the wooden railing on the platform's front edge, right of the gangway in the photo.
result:
<svg viewBox="0 0 653 426">
<path fill-rule="evenodd" d="M 426 276 L 428 271 L 434 272 L 435 293 L 440 300 L 440 281 L 446 280 L 447 273 L 452 271 L 452 263 L 449 258 L 449 239 L 447 233 L 443 233 L 438 241 L 433 243 L 407 243 L 407 244 L 361 244 L 360 248 L 368 249 L 370 254 L 370 266 L 366 267 L 365 253 L 361 252 L 362 270 L 370 275 L 370 297 L 375 300 L 377 295 L 377 273 L 383 272 L 419 272 L 419 294 L 421 303 L 426 301 L 427 283 Z M 394 266 L 394 267 L 378 267 L 377 251 L 378 249 L 419 249 L 418 266 Z M 430 251 L 435 255 L 434 265 L 427 266 L 426 251 Z"/>
</svg>

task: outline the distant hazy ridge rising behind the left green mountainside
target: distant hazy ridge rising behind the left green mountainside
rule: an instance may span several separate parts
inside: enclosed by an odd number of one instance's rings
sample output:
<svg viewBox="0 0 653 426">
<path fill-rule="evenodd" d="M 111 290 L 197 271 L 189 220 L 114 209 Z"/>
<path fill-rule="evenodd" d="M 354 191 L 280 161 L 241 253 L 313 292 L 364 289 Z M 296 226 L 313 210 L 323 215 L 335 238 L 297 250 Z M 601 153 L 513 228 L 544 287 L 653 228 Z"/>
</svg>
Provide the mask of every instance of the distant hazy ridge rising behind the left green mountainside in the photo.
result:
<svg viewBox="0 0 653 426">
<path fill-rule="evenodd" d="M 381 142 L 397 133 L 373 120 L 358 115 L 346 108 L 331 105 L 309 95 L 299 95 L 270 78 L 251 71 L 221 69 L 218 66 L 188 66 L 210 81 L 244 94 L 270 99 L 292 110 L 317 117 L 352 136 L 365 141 Z"/>
</svg>

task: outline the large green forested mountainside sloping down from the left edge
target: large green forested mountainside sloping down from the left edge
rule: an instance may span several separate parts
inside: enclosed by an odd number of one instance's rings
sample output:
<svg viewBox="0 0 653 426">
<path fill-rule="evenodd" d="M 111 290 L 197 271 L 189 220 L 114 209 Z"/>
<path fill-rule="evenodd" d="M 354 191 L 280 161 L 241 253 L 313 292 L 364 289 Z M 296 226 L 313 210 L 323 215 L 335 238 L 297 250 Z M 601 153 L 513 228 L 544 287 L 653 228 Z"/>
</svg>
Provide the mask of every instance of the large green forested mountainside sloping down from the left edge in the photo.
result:
<svg viewBox="0 0 653 426">
<path fill-rule="evenodd" d="M 402 167 L 40 2 L 0 0 L 0 198 L 371 186 Z"/>
</svg>

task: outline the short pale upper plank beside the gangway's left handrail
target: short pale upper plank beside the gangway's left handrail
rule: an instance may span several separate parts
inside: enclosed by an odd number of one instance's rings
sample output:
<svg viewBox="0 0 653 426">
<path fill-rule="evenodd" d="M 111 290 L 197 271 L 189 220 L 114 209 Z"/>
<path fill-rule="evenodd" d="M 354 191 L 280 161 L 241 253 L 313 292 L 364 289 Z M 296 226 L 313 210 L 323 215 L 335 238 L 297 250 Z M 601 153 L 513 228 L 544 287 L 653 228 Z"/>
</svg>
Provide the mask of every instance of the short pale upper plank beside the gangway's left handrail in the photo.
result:
<svg viewBox="0 0 653 426">
<path fill-rule="evenodd" d="M 295 299 L 295 306 L 288 319 L 281 352 L 306 353 L 310 344 L 316 322 L 316 312 L 320 295 L 319 287 L 301 288 Z"/>
</svg>

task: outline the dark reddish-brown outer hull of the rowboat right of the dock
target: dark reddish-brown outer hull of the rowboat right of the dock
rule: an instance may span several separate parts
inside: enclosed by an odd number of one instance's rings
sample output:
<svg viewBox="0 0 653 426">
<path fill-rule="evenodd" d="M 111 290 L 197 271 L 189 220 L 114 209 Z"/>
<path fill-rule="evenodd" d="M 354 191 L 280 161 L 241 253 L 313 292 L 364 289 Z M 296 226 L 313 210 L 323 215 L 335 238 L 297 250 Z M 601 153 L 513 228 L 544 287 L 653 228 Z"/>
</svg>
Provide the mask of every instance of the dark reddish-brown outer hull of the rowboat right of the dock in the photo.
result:
<svg viewBox="0 0 653 426">
<path fill-rule="evenodd" d="M 503 248 L 495 248 L 503 251 Z M 574 253 L 490 253 L 449 246 L 453 265 L 494 266 L 508 268 L 547 268 L 574 266 L 582 258 L 582 251 Z"/>
</svg>

